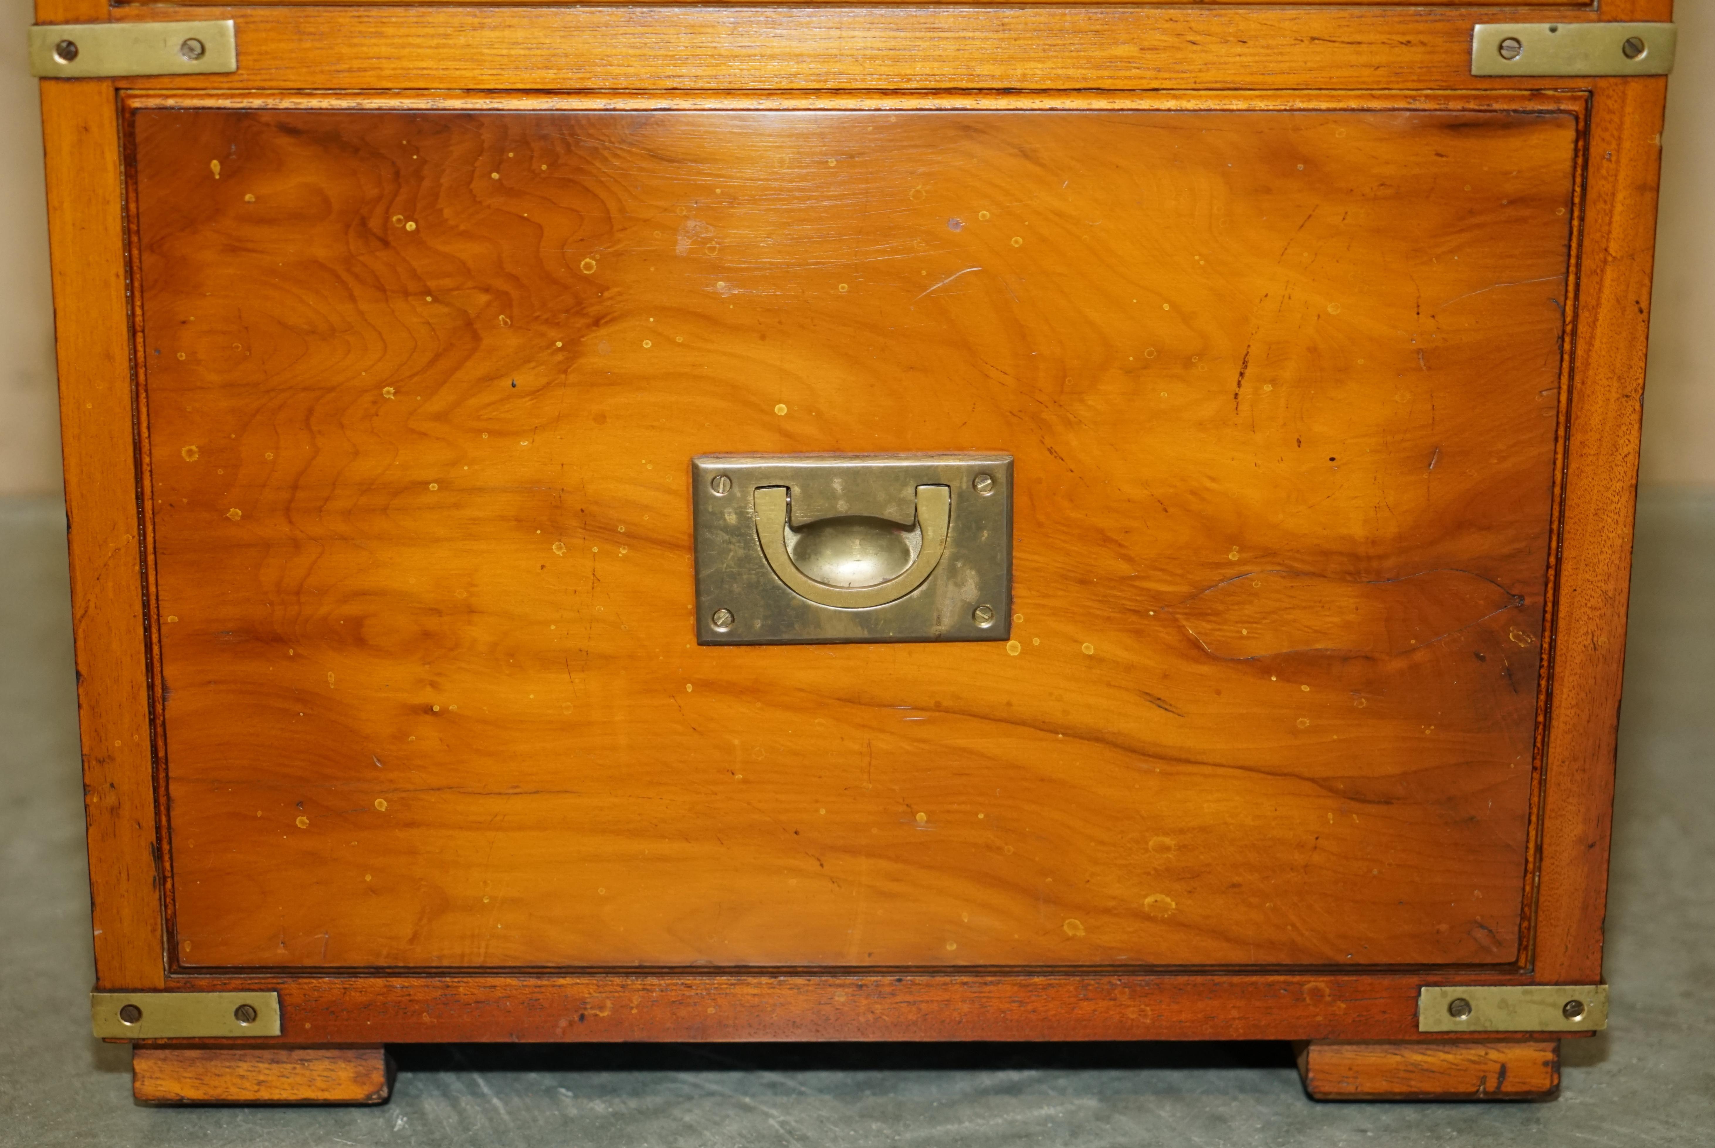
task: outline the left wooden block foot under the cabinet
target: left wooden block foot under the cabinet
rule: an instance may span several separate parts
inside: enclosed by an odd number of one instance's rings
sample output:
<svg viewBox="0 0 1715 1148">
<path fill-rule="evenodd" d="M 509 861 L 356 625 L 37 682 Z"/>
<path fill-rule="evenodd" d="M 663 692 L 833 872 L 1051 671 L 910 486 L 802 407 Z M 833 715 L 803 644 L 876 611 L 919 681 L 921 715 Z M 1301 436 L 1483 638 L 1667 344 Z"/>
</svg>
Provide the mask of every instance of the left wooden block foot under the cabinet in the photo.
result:
<svg viewBox="0 0 1715 1148">
<path fill-rule="evenodd" d="M 141 1103 L 386 1103 L 393 1059 L 382 1045 L 134 1045 L 130 1081 Z"/>
</svg>

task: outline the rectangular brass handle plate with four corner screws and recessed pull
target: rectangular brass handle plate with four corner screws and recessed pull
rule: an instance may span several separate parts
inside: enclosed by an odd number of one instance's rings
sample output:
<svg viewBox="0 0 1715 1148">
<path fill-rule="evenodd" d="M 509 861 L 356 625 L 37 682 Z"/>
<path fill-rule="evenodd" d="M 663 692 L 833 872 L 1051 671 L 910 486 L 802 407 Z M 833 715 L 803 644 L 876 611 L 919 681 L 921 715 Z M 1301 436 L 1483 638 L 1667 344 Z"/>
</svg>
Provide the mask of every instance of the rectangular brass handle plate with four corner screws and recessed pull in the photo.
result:
<svg viewBox="0 0 1715 1148">
<path fill-rule="evenodd" d="M 705 645 L 1008 637 L 1010 455 L 705 455 L 691 491 Z"/>
</svg>

